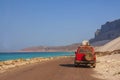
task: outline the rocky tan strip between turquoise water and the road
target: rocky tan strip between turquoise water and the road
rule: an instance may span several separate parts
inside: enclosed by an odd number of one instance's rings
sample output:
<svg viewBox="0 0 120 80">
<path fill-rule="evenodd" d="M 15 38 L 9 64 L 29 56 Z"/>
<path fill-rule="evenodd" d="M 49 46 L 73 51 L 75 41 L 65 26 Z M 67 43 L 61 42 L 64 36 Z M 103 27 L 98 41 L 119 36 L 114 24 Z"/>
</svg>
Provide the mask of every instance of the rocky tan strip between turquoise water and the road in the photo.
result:
<svg viewBox="0 0 120 80">
<path fill-rule="evenodd" d="M 22 59 L 21 58 L 21 59 L 16 59 L 16 60 L 0 61 L 0 73 L 4 73 L 4 72 L 9 71 L 9 69 L 22 67 L 25 65 L 41 63 L 41 62 L 60 59 L 60 58 L 67 58 L 67 57 L 71 57 L 71 56 L 57 56 L 57 57 L 47 57 L 47 58 L 36 57 L 36 58 L 30 58 L 30 59 Z"/>
</svg>

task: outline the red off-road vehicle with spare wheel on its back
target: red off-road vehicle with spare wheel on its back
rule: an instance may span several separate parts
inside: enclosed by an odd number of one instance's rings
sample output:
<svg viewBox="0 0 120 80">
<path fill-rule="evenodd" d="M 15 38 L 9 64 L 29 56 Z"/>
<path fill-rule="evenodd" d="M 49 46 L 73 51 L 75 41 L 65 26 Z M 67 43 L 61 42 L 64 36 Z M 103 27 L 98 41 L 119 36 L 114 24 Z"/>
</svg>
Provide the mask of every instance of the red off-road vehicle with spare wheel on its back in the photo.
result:
<svg viewBox="0 0 120 80">
<path fill-rule="evenodd" d="M 96 66 L 96 55 L 94 52 L 94 48 L 92 46 L 80 46 L 75 52 L 75 67 L 79 65 L 92 66 L 95 68 Z"/>
</svg>

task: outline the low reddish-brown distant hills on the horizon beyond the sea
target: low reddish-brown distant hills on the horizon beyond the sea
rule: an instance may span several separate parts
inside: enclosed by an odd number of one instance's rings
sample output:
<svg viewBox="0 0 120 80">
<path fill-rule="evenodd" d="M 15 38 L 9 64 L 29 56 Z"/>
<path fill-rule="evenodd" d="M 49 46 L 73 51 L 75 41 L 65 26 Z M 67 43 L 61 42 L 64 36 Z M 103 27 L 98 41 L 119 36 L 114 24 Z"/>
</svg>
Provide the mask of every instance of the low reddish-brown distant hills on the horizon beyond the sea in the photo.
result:
<svg viewBox="0 0 120 80">
<path fill-rule="evenodd" d="M 67 46 L 30 47 L 30 48 L 22 49 L 20 51 L 24 51 L 24 52 L 65 52 L 66 51 L 66 52 L 69 52 L 69 51 L 75 51 L 78 46 L 80 46 L 80 43 L 67 45 Z"/>
</svg>

